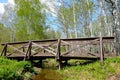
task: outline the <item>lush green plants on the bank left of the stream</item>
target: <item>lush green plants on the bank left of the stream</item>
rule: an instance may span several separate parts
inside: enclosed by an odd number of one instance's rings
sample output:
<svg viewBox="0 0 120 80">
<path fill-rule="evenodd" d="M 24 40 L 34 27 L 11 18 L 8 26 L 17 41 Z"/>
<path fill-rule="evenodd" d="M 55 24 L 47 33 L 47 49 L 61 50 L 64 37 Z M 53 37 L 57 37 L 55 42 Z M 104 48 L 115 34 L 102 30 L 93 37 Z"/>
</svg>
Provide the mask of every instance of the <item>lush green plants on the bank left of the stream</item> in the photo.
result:
<svg viewBox="0 0 120 80">
<path fill-rule="evenodd" d="M 17 62 L 0 57 L 0 80 L 23 80 L 25 76 L 22 73 L 26 68 L 29 72 L 33 71 L 30 66 L 26 61 Z"/>
</svg>

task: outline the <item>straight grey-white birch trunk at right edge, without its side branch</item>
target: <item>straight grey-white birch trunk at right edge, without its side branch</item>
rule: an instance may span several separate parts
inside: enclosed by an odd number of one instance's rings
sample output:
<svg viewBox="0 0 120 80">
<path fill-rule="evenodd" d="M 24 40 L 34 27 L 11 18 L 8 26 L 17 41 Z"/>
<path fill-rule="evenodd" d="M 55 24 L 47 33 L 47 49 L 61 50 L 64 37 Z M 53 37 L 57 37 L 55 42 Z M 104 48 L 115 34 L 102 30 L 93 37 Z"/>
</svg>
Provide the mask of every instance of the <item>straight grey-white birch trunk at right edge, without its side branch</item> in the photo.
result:
<svg viewBox="0 0 120 80">
<path fill-rule="evenodd" d="M 114 28 L 115 28 L 115 48 L 117 55 L 120 55 L 120 0 L 114 0 L 115 8 L 113 10 Z"/>
</svg>

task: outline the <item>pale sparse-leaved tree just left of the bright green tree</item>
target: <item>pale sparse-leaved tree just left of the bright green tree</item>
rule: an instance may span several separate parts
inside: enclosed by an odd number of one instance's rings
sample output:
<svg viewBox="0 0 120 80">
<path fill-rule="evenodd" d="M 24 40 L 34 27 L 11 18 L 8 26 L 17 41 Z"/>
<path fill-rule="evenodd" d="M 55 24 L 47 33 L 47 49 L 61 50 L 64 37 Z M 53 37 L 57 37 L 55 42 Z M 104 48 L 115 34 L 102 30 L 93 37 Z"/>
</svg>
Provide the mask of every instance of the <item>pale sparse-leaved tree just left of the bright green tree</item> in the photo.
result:
<svg viewBox="0 0 120 80">
<path fill-rule="evenodd" d="M 8 27 L 10 30 L 10 42 L 14 42 L 15 41 L 15 30 L 14 30 L 14 18 L 15 18 L 15 12 L 14 12 L 14 8 L 13 5 L 11 4 L 7 4 L 4 6 L 5 12 L 2 15 L 2 22 L 4 23 L 4 25 L 6 27 Z"/>
</svg>

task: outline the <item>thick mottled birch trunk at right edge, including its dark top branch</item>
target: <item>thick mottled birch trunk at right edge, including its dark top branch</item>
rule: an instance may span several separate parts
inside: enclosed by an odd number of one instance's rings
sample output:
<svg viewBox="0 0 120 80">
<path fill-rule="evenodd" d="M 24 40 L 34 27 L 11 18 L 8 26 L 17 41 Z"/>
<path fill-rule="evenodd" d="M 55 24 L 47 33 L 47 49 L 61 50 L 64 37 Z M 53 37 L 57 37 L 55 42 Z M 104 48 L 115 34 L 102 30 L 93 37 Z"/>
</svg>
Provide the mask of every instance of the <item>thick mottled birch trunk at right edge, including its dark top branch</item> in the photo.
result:
<svg viewBox="0 0 120 80">
<path fill-rule="evenodd" d="M 116 54 L 120 55 L 120 0 L 106 0 L 111 3 L 113 15 L 113 32 L 115 37 Z"/>
</svg>

